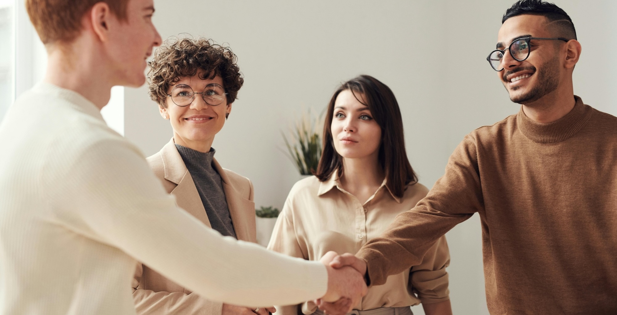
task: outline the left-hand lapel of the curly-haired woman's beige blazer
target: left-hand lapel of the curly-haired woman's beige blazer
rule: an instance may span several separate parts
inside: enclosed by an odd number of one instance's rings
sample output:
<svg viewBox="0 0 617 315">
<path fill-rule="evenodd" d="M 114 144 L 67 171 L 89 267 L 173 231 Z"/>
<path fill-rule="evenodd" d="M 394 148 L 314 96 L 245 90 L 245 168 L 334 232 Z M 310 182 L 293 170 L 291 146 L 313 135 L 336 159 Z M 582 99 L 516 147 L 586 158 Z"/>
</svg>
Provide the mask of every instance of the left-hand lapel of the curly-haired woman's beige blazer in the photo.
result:
<svg viewBox="0 0 617 315">
<path fill-rule="evenodd" d="M 201 202 L 201 197 L 199 197 L 199 192 L 197 192 L 191 173 L 186 169 L 186 165 L 184 165 L 184 161 L 182 161 L 182 157 L 180 153 L 178 153 L 173 138 L 163 147 L 163 150 L 161 150 L 161 157 L 165 169 L 165 179 L 178 185 L 172 190 L 173 196 L 176 197 L 176 204 L 178 207 L 191 213 L 193 217 L 196 217 L 205 225 L 212 227 L 210 226 L 210 220 L 208 220 L 208 215 L 205 213 L 204 204 Z"/>
</svg>

